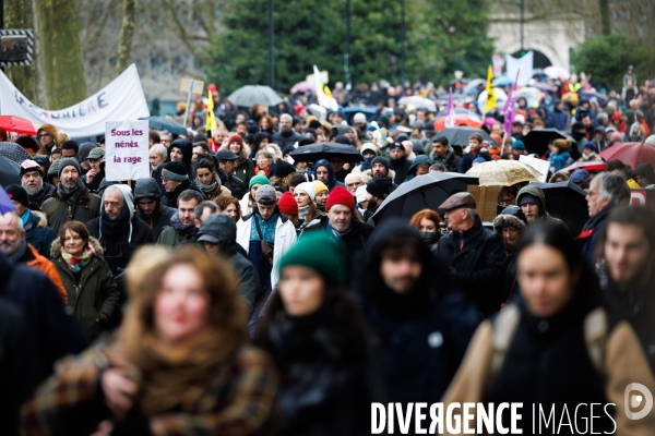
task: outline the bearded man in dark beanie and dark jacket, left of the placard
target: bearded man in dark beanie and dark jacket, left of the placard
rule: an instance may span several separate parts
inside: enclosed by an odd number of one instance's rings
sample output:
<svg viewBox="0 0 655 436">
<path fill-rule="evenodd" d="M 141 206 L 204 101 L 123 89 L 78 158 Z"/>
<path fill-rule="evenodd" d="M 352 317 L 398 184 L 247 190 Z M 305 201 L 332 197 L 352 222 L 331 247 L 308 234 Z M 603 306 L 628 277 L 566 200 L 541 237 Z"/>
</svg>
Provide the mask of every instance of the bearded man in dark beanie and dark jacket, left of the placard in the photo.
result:
<svg viewBox="0 0 655 436">
<path fill-rule="evenodd" d="M 82 183 L 82 169 L 78 159 L 61 159 L 58 175 L 59 186 L 41 206 L 56 233 L 69 221 L 81 221 L 86 226 L 100 215 L 100 197 L 90 193 Z"/>
</svg>

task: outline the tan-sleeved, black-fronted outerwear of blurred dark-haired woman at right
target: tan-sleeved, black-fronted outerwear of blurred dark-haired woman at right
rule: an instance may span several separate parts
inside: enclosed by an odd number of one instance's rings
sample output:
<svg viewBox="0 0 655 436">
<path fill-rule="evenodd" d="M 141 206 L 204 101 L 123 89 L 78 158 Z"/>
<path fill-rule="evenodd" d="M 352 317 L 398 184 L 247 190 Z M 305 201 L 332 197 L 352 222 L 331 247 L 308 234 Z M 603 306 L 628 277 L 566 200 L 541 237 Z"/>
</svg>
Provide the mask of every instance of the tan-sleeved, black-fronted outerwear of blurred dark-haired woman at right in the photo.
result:
<svg viewBox="0 0 655 436">
<path fill-rule="evenodd" d="M 519 427 L 532 434 L 538 420 L 532 416 L 532 404 L 545 411 L 555 405 L 556 423 L 565 404 L 570 420 L 577 420 L 576 428 L 584 428 L 590 410 L 577 411 L 579 404 L 615 403 L 607 412 L 614 415 L 617 435 L 653 434 L 655 414 L 630 420 L 624 413 L 627 386 L 640 383 L 655 389 L 644 353 L 630 325 L 616 323 L 603 307 L 593 271 L 584 269 L 583 284 L 553 316 L 536 317 L 519 300 L 480 325 L 443 398 L 444 410 L 453 402 L 522 402 Z M 614 433 L 615 424 L 603 411 L 594 415 L 595 432 Z M 509 424 L 509 413 L 503 424 Z M 475 426 L 474 420 L 471 427 Z M 557 434 L 553 428 L 547 433 Z M 571 434 L 571 427 L 563 428 Z"/>
</svg>

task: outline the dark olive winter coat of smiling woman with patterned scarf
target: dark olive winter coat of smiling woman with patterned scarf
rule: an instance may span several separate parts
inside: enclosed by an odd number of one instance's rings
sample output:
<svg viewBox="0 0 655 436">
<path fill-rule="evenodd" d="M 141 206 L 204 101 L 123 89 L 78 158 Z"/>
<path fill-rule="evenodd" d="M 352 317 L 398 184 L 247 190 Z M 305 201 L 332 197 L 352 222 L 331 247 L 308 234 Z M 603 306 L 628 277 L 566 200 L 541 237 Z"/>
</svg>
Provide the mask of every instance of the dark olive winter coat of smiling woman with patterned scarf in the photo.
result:
<svg viewBox="0 0 655 436">
<path fill-rule="evenodd" d="M 102 257 L 100 243 L 95 238 L 91 238 L 90 241 L 94 246 L 95 255 L 80 271 L 79 280 L 75 279 L 75 275 L 61 257 L 61 240 L 59 238 L 52 244 L 51 256 L 68 292 L 69 307 L 73 310 L 84 332 L 93 341 L 108 323 L 103 320 L 99 314 L 105 314 L 108 320 L 111 320 L 117 312 L 120 294 L 111 269 Z"/>
</svg>

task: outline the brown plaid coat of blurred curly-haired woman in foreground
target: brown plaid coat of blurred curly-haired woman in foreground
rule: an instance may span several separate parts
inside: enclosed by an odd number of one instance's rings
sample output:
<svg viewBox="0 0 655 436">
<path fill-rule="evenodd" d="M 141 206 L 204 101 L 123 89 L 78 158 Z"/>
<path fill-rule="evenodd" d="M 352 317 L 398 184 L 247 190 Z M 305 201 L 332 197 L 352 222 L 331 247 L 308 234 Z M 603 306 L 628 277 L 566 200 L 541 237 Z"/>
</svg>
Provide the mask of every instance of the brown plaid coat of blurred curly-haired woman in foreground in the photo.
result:
<svg viewBox="0 0 655 436">
<path fill-rule="evenodd" d="M 103 351 L 93 348 L 62 362 L 22 409 L 22 434 L 88 435 L 110 417 L 100 389 Z M 245 346 L 184 401 L 180 411 L 151 416 L 155 436 L 174 435 L 260 435 L 272 433 L 272 413 L 277 375 L 269 358 Z"/>
</svg>

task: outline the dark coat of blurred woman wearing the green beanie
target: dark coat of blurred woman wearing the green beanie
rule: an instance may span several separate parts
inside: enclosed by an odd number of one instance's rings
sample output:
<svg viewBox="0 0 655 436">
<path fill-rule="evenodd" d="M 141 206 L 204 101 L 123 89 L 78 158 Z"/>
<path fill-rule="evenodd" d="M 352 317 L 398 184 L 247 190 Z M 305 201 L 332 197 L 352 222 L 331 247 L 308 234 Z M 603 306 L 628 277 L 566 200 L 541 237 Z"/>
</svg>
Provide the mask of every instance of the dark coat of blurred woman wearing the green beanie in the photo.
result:
<svg viewBox="0 0 655 436">
<path fill-rule="evenodd" d="M 281 373 L 279 435 L 359 436 L 370 433 L 371 402 L 385 402 L 376 342 L 354 303 L 341 293 L 317 313 L 288 316 L 272 295 L 255 343 Z"/>
</svg>

